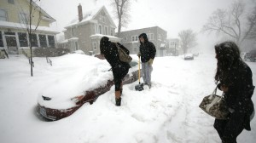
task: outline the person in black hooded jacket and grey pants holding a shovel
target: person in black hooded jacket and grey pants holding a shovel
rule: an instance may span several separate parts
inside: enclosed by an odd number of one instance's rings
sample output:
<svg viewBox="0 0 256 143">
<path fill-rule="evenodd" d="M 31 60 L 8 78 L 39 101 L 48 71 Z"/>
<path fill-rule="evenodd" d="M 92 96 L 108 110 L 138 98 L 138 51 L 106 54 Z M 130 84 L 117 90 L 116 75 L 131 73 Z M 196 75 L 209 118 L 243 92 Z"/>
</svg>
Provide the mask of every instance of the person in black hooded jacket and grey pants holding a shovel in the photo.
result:
<svg viewBox="0 0 256 143">
<path fill-rule="evenodd" d="M 154 43 L 148 41 L 147 34 L 142 33 L 139 36 L 140 40 L 140 52 L 137 54 L 142 60 L 142 72 L 143 72 L 143 84 L 148 85 L 151 88 L 151 72 L 153 71 L 153 61 L 155 56 Z"/>
</svg>

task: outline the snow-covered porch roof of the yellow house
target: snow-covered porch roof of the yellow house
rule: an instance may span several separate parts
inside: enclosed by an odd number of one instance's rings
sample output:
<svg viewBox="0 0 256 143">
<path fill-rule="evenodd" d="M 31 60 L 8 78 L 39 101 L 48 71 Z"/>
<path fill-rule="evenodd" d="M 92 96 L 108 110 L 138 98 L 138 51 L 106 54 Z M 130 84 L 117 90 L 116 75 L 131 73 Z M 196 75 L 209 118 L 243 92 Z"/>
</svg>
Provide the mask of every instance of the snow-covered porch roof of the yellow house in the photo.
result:
<svg viewBox="0 0 256 143">
<path fill-rule="evenodd" d="M 0 26 L 3 28 L 13 28 L 13 29 L 22 29 L 22 30 L 26 30 L 26 27 L 27 27 L 26 25 L 21 23 L 14 23 L 14 22 L 8 22 L 3 20 L 0 20 Z M 32 26 L 32 29 L 35 29 L 35 28 L 36 26 Z M 38 26 L 37 31 L 47 31 L 53 34 L 59 33 L 59 31 L 55 31 L 54 29 L 48 26 Z"/>
</svg>

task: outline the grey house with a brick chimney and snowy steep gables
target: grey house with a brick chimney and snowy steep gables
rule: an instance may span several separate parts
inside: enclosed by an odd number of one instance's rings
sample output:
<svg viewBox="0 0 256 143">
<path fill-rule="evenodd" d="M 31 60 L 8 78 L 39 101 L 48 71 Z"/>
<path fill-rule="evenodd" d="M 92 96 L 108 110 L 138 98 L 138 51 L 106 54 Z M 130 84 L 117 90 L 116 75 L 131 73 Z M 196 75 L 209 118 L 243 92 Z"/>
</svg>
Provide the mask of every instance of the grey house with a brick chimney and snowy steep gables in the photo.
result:
<svg viewBox="0 0 256 143">
<path fill-rule="evenodd" d="M 61 42 L 71 51 L 82 50 L 84 54 L 100 53 L 100 40 L 109 37 L 112 42 L 120 42 L 114 37 L 115 24 L 105 6 L 89 10 L 83 14 L 82 6 L 78 6 L 79 17 L 65 27 L 65 40 Z"/>
</svg>

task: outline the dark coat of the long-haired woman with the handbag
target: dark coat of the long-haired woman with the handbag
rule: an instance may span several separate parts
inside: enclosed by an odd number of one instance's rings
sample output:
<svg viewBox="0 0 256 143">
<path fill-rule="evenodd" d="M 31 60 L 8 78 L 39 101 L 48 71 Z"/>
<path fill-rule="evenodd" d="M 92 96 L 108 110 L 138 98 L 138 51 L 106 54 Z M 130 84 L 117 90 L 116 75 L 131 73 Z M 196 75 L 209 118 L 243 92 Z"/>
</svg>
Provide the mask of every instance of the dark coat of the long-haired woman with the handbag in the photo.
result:
<svg viewBox="0 0 256 143">
<path fill-rule="evenodd" d="M 250 128 L 250 115 L 253 112 L 253 79 L 252 71 L 242 60 L 237 60 L 230 67 L 229 90 L 224 94 L 224 100 L 235 112 L 245 113 L 244 128 Z M 218 87 L 225 85 L 225 81 L 220 80 Z"/>
</svg>

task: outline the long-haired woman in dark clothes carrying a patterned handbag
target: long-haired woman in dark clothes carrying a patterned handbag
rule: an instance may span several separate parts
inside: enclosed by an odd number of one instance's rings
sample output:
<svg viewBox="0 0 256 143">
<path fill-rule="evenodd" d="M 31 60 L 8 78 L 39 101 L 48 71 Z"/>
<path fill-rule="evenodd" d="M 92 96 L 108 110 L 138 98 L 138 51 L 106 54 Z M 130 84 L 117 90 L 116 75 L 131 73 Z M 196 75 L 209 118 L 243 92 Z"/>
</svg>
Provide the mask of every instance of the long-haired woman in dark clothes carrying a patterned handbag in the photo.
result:
<svg viewBox="0 0 256 143">
<path fill-rule="evenodd" d="M 214 128 L 223 143 L 235 143 L 243 129 L 251 130 L 250 116 L 253 114 L 253 75 L 241 60 L 240 50 L 234 42 L 215 46 L 217 72 L 215 81 L 224 92 L 224 100 L 230 115 L 226 120 L 215 119 Z"/>
</svg>

